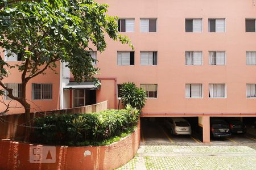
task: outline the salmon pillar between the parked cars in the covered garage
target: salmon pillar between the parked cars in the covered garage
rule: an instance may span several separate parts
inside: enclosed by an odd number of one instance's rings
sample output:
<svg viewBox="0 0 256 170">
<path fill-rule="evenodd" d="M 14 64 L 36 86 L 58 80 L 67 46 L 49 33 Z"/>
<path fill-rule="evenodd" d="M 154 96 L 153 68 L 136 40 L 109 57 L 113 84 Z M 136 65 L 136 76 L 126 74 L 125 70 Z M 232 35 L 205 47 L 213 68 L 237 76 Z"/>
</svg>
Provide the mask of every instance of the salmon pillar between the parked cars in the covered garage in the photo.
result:
<svg viewBox="0 0 256 170">
<path fill-rule="evenodd" d="M 203 128 L 203 142 L 210 143 L 210 117 L 199 117 L 199 126 Z"/>
</svg>

